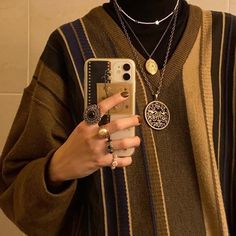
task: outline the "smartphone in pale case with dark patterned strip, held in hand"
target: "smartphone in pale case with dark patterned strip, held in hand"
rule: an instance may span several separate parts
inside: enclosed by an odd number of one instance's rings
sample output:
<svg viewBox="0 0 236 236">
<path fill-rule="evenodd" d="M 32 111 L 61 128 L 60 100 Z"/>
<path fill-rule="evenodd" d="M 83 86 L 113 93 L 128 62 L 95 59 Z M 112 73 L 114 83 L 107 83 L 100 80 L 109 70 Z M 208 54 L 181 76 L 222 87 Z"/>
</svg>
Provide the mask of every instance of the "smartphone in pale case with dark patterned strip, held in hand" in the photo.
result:
<svg viewBox="0 0 236 236">
<path fill-rule="evenodd" d="M 128 99 L 108 112 L 109 121 L 135 114 L 135 63 L 126 58 L 91 58 L 84 66 L 84 105 L 101 100 L 123 91 L 129 92 Z M 135 136 L 135 127 L 111 134 L 112 140 Z M 134 148 L 115 150 L 118 156 L 131 156 Z"/>
</svg>

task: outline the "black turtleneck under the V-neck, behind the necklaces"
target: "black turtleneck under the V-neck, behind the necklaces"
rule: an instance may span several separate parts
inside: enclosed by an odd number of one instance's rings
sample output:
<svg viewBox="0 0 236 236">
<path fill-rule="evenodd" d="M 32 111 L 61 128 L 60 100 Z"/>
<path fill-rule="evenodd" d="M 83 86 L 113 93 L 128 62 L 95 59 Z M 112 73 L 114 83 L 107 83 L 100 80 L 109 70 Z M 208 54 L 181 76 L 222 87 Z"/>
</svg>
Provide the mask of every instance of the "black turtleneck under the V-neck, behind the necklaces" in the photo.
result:
<svg viewBox="0 0 236 236">
<path fill-rule="evenodd" d="M 117 0 L 118 4 L 121 8 L 132 18 L 140 21 L 155 21 L 160 20 L 163 17 L 167 16 L 170 12 L 173 11 L 177 0 Z M 174 34 L 174 39 L 170 51 L 170 56 L 173 54 L 174 50 L 176 49 L 183 32 L 185 30 L 188 14 L 189 14 L 189 5 L 185 0 L 180 0 L 179 3 L 179 12 L 177 18 L 177 25 L 176 31 Z M 121 27 L 121 23 L 117 17 L 116 11 L 113 6 L 113 1 L 111 0 L 109 3 L 105 3 L 103 5 L 104 9 L 107 13 L 114 19 L 114 21 Z M 121 13 L 122 14 L 122 13 Z M 140 25 L 134 23 L 133 21 L 125 18 L 135 34 L 138 36 L 139 40 L 146 48 L 146 50 L 151 53 L 155 48 L 157 42 L 161 38 L 162 34 L 164 33 L 169 20 L 160 23 L 160 25 Z M 128 29 L 128 27 L 126 27 Z M 167 45 L 169 42 L 170 32 L 171 32 L 172 25 L 167 32 L 166 36 L 164 37 L 162 43 L 156 50 L 155 54 L 153 55 L 153 59 L 158 63 L 159 68 L 162 68 Z M 129 36 L 131 38 L 132 44 L 134 47 L 146 58 L 148 56 L 143 51 L 140 44 L 137 42 L 133 34 L 128 30 Z"/>
</svg>

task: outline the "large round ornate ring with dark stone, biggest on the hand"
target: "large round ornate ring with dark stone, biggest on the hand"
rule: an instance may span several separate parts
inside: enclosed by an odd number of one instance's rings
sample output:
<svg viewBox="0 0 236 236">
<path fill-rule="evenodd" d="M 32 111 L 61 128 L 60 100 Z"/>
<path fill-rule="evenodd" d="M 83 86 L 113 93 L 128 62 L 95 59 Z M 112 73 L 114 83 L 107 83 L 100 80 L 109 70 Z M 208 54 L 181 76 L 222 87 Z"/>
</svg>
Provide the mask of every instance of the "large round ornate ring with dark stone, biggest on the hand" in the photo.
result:
<svg viewBox="0 0 236 236">
<path fill-rule="evenodd" d="M 84 111 L 84 120 L 89 125 L 97 124 L 101 120 L 100 107 L 97 104 L 89 105 Z"/>
</svg>

